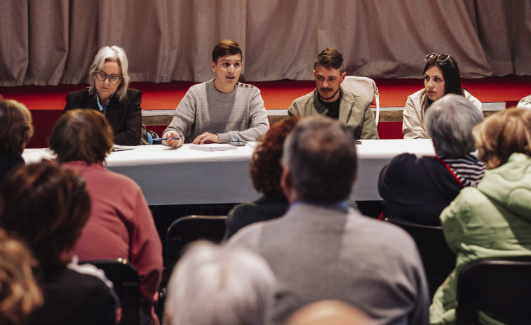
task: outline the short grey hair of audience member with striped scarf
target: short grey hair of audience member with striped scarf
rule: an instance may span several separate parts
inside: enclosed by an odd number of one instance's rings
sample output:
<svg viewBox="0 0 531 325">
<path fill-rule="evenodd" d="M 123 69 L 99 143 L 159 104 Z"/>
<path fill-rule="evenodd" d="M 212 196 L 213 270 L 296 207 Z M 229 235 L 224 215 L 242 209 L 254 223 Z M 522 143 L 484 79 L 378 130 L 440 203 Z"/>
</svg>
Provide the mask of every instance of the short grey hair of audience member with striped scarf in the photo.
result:
<svg viewBox="0 0 531 325">
<path fill-rule="evenodd" d="M 476 150 L 472 128 L 483 113 L 463 96 L 448 94 L 426 111 L 426 129 L 438 154 L 462 157 Z"/>
</svg>

